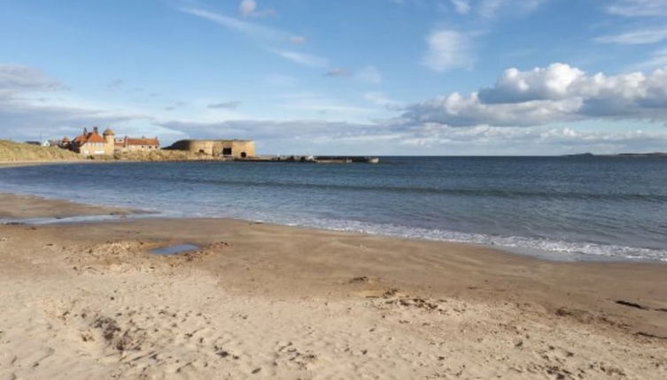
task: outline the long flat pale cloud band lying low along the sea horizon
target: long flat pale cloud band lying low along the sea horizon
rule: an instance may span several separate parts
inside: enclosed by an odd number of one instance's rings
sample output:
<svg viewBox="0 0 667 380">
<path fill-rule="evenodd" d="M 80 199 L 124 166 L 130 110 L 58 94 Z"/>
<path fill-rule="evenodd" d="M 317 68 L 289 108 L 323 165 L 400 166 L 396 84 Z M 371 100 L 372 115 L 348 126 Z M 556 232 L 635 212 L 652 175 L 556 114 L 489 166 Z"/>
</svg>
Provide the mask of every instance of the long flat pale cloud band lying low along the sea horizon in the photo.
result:
<svg viewBox="0 0 667 380">
<path fill-rule="evenodd" d="M 250 138 L 262 153 L 394 155 L 414 151 L 430 155 L 547 155 L 657 151 L 667 131 L 582 131 L 575 126 L 535 128 L 425 124 L 376 125 L 322 120 L 232 120 L 166 122 L 169 130 L 200 138 Z M 299 136 L 299 138 L 295 138 Z"/>
</svg>

